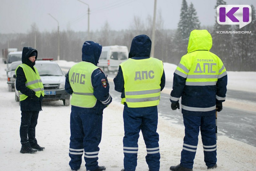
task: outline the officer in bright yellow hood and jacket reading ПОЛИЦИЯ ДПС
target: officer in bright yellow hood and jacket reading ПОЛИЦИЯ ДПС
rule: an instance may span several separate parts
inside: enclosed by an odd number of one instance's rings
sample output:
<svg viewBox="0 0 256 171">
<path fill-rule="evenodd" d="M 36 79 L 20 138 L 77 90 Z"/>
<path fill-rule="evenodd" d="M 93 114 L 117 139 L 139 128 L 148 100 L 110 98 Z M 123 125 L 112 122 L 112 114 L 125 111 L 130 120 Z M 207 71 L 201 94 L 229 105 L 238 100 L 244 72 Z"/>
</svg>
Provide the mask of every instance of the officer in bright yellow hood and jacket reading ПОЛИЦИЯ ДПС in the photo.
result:
<svg viewBox="0 0 256 171">
<path fill-rule="evenodd" d="M 185 137 L 180 164 L 171 166 L 172 171 L 192 171 L 199 129 L 207 169 L 217 167 L 215 112 L 222 110 L 228 77 L 220 58 L 209 51 L 211 48 L 212 36 L 207 30 L 191 31 L 188 53 L 174 71 L 171 108 L 180 108 L 181 97 Z"/>
</svg>

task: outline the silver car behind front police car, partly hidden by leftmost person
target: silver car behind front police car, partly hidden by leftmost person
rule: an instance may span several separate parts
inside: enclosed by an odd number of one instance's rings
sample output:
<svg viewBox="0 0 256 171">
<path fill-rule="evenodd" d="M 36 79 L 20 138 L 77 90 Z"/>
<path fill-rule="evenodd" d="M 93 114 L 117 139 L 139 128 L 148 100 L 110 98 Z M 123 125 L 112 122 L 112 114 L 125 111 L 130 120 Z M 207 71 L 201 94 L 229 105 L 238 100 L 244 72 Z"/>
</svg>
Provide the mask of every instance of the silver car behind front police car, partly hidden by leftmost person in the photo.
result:
<svg viewBox="0 0 256 171">
<path fill-rule="evenodd" d="M 12 92 L 14 90 L 14 82 L 15 78 L 13 78 L 13 75 L 15 74 L 15 70 L 18 67 L 18 65 L 21 64 L 21 61 L 12 62 L 10 67 L 5 69 L 7 72 L 7 84 L 8 84 L 8 91 Z"/>
</svg>

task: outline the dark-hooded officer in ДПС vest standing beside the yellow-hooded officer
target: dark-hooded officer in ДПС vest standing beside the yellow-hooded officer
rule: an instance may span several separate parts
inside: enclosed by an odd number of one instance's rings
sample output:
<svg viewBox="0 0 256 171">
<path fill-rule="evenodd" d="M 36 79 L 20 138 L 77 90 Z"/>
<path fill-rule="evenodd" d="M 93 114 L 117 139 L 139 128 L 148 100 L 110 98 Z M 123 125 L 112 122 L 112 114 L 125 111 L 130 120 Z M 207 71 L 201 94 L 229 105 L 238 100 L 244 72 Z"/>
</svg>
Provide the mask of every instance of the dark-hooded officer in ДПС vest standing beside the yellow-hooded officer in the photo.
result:
<svg viewBox="0 0 256 171">
<path fill-rule="evenodd" d="M 150 171 L 160 168 L 159 135 L 156 132 L 157 105 L 165 85 L 163 62 L 150 57 L 151 40 L 147 35 L 132 40 L 129 59 L 120 64 L 114 78 L 115 90 L 121 92 L 124 104 L 124 169 L 135 171 L 138 138 L 142 132 L 146 147 L 146 161 Z"/>
</svg>

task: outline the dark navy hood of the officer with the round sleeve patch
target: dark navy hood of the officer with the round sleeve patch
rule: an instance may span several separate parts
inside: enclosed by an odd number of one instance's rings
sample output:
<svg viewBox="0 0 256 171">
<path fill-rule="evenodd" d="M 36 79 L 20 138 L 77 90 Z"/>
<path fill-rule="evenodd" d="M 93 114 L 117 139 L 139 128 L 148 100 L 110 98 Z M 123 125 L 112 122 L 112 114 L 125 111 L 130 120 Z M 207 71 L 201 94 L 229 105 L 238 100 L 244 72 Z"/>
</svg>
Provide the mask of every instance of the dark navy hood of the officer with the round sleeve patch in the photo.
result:
<svg viewBox="0 0 256 171">
<path fill-rule="evenodd" d="M 102 46 L 94 41 L 85 41 L 82 48 L 82 61 L 93 63 L 97 66 Z"/>
</svg>

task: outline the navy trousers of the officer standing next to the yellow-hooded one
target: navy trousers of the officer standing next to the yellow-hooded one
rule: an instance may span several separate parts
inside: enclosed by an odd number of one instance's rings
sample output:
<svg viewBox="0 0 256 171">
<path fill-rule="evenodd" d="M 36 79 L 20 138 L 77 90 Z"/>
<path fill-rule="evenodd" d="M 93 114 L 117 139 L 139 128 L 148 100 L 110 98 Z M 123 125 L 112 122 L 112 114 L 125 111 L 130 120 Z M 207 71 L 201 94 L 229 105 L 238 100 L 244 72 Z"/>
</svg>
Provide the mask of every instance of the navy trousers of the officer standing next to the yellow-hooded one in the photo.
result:
<svg viewBox="0 0 256 171">
<path fill-rule="evenodd" d="M 124 170 L 135 171 L 138 156 L 140 130 L 147 148 L 146 162 L 150 171 L 159 171 L 159 135 L 156 132 L 157 106 L 129 108 L 124 105 Z"/>
</svg>

